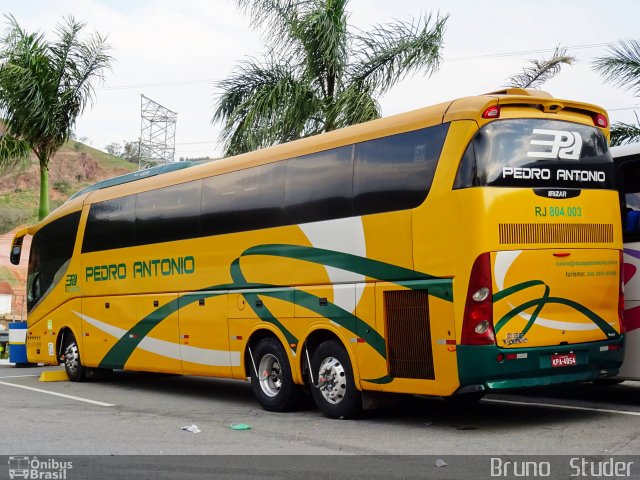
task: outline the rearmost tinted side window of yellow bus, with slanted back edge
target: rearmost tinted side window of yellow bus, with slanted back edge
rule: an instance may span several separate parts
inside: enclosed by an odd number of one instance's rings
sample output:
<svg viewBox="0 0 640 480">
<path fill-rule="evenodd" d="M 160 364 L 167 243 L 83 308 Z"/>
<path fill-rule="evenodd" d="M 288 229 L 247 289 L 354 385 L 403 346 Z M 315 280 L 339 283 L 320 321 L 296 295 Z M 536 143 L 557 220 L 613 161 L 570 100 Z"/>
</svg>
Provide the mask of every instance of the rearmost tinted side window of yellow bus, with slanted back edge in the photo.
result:
<svg viewBox="0 0 640 480">
<path fill-rule="evenodd" d="M 414 208 L 427 196 L 449 124 L 356 144 L 354 214 Z"/>
</svg>

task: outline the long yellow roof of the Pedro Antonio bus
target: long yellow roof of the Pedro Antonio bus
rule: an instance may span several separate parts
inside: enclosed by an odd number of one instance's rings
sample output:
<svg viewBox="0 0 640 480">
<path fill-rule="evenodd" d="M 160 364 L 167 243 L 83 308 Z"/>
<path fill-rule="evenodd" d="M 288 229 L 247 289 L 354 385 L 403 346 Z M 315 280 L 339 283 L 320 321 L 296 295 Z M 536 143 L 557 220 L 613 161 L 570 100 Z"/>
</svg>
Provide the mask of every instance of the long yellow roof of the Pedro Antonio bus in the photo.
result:
<svg viewBox="0 0 640 480">
<path fill-rule="evenodd" d="M 141 172 L 122 175 L 89 186 L 70 197 L 69 200 L 75 200 L 88 194 L 82 199 L 82 203 L 92 204 L 109 198 L 162 188 L 175 183 L 218 175 L 229 171 L 251 168 L 287 158 L 303 156 L 351 143 L 394 135 L 409 130 L 417 130 L 454 120 L 475 120 L 480 123 L 485 123 L 492 121 L 491 119 L 481 117 L 482 113 L 491 105 L 533 108 L 538 112 L 537 114 L 547 111 L 557 113 L 565 110 L 572 112 L 573 115 L 585 115 L 585 117 L 582 117 L 582 121 L 584 121 L 584 118 L 591 117 L 594 113 L 606 114 L 606 112 L 598 106 L 556 99 L 547 92 L 520 88 L 506 89 L 483 95 L 450 100 L 441 104 L 379 118 L 377 120 L 294 140 L 234 157 L 222 158 L 215 162 L 206 162 L 206 164 L 203 164 L 205 162 L 177 162 Z M 151 177 L 155 177 L 154 180 L 147 180 Z M 135 186 L 132 185 L 132 182 L 135 182 Z"/>
</svg>

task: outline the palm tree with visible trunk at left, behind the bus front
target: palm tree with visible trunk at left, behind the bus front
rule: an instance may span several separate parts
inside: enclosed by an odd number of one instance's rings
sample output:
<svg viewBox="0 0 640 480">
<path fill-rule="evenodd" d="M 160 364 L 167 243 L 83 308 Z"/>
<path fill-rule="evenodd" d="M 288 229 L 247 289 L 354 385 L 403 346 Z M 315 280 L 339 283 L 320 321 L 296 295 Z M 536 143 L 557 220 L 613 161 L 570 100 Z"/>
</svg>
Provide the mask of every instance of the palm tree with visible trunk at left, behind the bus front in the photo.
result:
<svg viewBox="0 0 640 480">
<path fill-rule="evenodd" d="M 38 216 L 49 213 L 49 160 L 67 141 L 88 103 L 92 82 L 103 78 L 111 57 L 105 38 L 79 36 L 85 24 L 73 17 L 58 25 L 57 39 L 47 42 L 28 33 L 7 16 L 9 28 L 0 39 L 0 166 L 16 164 L 33 152 L 40 163 Z"/>
</svg>

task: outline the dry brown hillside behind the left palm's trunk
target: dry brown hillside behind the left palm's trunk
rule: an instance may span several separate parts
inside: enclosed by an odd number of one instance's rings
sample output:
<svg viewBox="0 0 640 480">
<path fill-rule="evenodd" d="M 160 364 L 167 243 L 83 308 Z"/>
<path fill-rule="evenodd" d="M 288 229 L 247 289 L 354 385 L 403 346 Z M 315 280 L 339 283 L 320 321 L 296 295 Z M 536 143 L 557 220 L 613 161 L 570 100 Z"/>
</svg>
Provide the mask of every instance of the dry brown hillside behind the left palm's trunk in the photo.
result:
<svg viewBox="0 0 640 480">
<path fill-rule="evenodd" d="M 54 210 L 81 188 L 137 170 L 138 165 L 76 141 L 64 145 L 49 164 L 49 201 Z M 0 235 L 38 218 L 40 171 L 30 165 L 0 175 Z"/>
</svg>

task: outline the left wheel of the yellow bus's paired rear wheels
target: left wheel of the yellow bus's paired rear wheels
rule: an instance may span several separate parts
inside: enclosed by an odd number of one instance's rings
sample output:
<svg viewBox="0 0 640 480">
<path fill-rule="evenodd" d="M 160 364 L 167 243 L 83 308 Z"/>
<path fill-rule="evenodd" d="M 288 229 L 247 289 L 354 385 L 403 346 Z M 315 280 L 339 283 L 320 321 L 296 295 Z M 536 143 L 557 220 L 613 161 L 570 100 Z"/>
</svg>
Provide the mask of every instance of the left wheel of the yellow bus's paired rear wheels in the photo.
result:
<svg viewBox="0 0 640 480">
<path fill-rule="evenodd" d="M 289 359 L 280 342 L 273 337 L 263 338 L 252 353 L 255 365 L 250 368 L 251 389 L 262 408 L 269 412 L 294 409 L 302 389 L 293 383 Z"/>
</svg>

